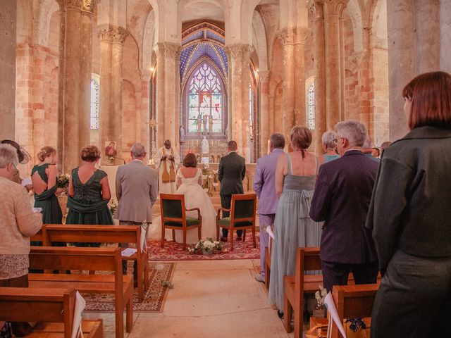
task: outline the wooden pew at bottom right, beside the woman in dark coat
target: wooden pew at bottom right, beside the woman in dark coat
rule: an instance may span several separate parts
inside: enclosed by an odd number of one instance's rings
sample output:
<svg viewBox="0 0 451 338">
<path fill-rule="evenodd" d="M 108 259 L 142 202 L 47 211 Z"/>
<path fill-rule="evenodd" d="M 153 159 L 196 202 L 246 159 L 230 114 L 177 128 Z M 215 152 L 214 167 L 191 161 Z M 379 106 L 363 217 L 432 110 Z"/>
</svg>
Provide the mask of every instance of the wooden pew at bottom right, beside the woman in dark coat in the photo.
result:
<svg viewBox="0 0 451 338">
<path fill-rule="evenodd" d="M 378 280 L 378 284 L 334 285 L 332 296 L 340 320 L 371 317 L 380 282 L 381 280 Z M 341 337 L 339 334 L 337 325 L 333 323 L 332 338 Z"/>
</svg>

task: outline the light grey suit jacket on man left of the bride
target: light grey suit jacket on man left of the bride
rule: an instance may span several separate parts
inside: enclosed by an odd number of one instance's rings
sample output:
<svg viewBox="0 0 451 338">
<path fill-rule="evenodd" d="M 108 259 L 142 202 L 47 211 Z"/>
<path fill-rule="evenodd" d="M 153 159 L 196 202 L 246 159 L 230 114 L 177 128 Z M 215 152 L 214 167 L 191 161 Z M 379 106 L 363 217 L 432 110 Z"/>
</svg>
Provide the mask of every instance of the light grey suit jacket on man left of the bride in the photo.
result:
<svg viewBox="0 0 451 338">
<path fill-rule="evenodd" d="M 119 201 L 115 218 L 129 222 L 152 222 L 152 205 L 156 201 L 156 171 L 141 161 L 121 165 L 116 174 L 116 197 Z"/>
</svg>

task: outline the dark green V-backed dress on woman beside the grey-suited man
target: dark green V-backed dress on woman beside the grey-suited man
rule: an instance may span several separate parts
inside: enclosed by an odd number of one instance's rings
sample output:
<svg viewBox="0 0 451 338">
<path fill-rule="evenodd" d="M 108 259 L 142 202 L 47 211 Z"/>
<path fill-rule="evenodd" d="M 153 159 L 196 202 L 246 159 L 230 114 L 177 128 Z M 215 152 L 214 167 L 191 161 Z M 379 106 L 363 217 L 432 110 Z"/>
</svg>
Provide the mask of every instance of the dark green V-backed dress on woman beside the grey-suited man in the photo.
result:
<svg viewBox="0 0 451 338">
<path fill-rule="evenodd" d="M 101 198 L 100 181 L 106 177 L 104 170 L 96 170 L 85 184 L 78 177 L 78 168 L 72 170 L 73 197 L 68 196 L 66 224 L 114 225 L 108 207 L 109 200 Z M 100 243 L 76 243 L 76 246 L 97 247 Z"/>
</svg>

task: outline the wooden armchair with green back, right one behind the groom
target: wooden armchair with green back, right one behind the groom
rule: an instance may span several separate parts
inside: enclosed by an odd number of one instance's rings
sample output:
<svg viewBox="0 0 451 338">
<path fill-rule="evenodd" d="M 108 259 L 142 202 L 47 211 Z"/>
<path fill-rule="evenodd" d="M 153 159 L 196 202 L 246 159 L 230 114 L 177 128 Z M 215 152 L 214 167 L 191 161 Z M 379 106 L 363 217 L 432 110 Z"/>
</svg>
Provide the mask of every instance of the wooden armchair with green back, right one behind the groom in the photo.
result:
<svg viewBox="0 0 451 338">
<path fill-rule="evenodd" d="M 246 239 L 246 230 L 252 230 L 252 241 L 254 248 L 257 247 L 255 241 L 255 212 L 257 209 L 256 194 L 236 194 L 232 195 L 230 209 L 219 208 L 216 215 L 216 240 L 219 240 L 219 228 L 229 230 L 230 251 L 233 251 L 233 232 L 243 230 L 242 240 Z M 230 211 L 230 217 L 221 218 L 221 211 Z"/>
</svg>

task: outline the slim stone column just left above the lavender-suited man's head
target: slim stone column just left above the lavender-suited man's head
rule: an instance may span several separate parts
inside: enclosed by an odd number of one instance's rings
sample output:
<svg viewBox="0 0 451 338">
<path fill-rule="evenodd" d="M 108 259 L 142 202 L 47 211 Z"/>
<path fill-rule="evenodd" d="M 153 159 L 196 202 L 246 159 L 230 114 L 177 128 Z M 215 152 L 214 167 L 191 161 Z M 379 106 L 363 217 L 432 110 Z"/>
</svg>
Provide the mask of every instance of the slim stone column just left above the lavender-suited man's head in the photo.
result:
<svg viewBox="0 0 451 338">
<path fill-rule="evenodd" d="M 260 70 L 260 155 L 266 155 L 270 134 L 269 118 L 269 70 Z"/>
</svg>

